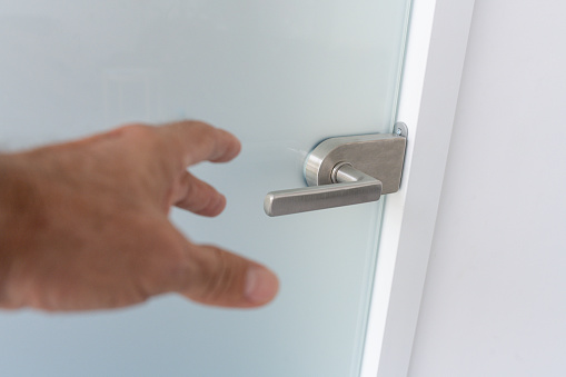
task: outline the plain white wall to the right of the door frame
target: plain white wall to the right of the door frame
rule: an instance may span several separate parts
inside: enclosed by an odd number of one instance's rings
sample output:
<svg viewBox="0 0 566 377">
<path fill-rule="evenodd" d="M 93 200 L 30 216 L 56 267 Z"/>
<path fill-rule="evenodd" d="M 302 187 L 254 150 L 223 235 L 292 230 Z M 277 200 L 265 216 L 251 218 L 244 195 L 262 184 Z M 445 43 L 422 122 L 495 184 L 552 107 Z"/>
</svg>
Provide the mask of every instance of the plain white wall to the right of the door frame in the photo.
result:
<svg viewBox="0 0 566 377">
<path fill-rule="evenodd" d="M 411 377 L 566 375 L 564 14 L 476 1 Z"/>
</svg>

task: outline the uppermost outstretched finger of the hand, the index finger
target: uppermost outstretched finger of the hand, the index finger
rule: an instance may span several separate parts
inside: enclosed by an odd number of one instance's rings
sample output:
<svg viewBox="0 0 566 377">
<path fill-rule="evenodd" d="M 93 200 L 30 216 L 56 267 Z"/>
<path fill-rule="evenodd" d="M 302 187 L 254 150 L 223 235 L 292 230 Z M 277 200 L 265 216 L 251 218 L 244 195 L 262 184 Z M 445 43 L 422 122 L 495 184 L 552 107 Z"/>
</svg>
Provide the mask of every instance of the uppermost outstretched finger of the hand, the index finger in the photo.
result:
<svg viewBox="0 0 566 377">
<path fill-rule="evenodd" d="M 200 161 L 227 162 L 240 152 L 240 141 L 230 132 L 201 121 L 187 120 L 158 127 L 185 167 Z"/>
</svg>

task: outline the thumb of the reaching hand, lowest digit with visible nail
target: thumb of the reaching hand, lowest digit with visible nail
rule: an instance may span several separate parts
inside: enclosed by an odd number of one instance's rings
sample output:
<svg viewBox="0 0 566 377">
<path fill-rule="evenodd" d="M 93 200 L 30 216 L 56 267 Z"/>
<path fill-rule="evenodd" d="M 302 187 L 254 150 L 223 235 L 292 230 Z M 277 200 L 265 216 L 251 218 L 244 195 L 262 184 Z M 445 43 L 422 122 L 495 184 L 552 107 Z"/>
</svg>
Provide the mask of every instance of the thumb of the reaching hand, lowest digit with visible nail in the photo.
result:
<svg viewBox="0 0 566 377">
<path fill-rule="evenodd" d="M 251 260 L 214 246 L 188 244 L 190 271 L 180 294 L 193 301 L 249 308 L 274 299 L 279 281 L 274 272 Z"/>
</svg>

